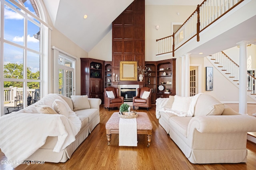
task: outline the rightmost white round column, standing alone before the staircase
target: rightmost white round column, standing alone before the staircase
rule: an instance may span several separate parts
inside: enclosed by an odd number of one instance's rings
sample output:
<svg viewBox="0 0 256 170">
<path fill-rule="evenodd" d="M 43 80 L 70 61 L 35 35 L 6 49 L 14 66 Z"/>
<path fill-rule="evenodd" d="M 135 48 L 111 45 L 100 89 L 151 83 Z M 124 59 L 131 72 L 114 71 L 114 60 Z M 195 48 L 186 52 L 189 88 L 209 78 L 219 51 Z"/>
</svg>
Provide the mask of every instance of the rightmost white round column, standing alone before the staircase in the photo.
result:
<svg viewBox="0 0 256 170">
<path fill-rule="evenodd" d="M 237 43 L 239 47 L 239 113 L 247 114 L 247 54 L 246 41 Z"/>
</svg>

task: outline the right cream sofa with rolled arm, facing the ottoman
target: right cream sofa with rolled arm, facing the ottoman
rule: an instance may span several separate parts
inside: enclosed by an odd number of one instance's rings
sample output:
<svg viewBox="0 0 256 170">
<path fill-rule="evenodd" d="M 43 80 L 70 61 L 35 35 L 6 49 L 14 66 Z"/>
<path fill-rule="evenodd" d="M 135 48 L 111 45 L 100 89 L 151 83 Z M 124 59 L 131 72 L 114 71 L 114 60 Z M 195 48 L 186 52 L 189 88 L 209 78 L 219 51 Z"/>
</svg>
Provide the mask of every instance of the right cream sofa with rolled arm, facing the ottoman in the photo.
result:
<svg viewBox="0 0 256 170">
<path fill-rule="evenodd" d="M 256 131 L 255 117 L 241 115 L 206 94 L 159 98 L 156 117 L 194 164 L 246 162 L 247 133 Z"/>
</svg>

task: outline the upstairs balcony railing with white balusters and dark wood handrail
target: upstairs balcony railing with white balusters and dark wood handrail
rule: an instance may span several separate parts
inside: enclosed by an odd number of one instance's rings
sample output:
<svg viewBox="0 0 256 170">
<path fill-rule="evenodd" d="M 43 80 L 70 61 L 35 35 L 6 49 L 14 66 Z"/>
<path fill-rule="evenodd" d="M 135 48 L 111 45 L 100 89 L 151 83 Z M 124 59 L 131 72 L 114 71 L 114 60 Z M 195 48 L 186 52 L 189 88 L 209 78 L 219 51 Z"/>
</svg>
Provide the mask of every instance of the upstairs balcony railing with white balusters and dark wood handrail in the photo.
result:
<svg viewBox="0 0 256 170">
<path fill-rule="evenodd" d="M 181 25 L 181 27 L 168 37 L 157 39 L 158 51 L 156 55 L 171 53 L 196 36 L 200 41 L 200 32 L 224 16 L 244 0 L 204 0 L 196 10 Z"/>
</svg>

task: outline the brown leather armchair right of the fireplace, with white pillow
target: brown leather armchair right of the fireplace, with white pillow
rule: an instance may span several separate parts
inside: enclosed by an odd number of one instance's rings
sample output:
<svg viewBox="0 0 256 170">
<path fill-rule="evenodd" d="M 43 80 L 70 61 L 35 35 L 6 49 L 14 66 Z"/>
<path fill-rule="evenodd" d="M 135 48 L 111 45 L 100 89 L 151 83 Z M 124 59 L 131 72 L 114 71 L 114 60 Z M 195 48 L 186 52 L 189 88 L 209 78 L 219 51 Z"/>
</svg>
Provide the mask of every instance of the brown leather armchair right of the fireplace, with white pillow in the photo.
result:
<svg viewBox="0 0 256 170">
<path fill-rule="evenodd" d="M 151 107 L 151 94 L 152 94 L 152 89 L 148 87 L 142 87 L 137 89 L 137 96 L 133 97 L 133 109 L 134 106 L 138 107 Z"/>
</svg>

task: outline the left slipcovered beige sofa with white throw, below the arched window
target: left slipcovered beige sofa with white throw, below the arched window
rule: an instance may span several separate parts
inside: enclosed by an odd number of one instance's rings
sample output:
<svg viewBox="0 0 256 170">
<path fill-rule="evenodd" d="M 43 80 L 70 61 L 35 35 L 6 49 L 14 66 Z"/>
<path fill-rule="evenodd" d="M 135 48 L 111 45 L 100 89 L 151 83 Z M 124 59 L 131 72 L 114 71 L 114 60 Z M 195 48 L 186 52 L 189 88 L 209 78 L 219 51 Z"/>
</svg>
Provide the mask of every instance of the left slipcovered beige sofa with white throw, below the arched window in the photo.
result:
<svg viewBox="0 0 256 170">
<path fill-rule="evenodd" d="M 71 98 L 48 94 L 35 104 L 0 117 L 0 131 L 5 133 L 0 134 L 0 148 L 8 160 L 66 162 L 100 123 L 100 99 Z"/>
</svg>

